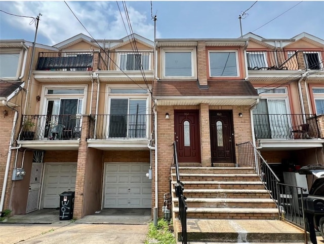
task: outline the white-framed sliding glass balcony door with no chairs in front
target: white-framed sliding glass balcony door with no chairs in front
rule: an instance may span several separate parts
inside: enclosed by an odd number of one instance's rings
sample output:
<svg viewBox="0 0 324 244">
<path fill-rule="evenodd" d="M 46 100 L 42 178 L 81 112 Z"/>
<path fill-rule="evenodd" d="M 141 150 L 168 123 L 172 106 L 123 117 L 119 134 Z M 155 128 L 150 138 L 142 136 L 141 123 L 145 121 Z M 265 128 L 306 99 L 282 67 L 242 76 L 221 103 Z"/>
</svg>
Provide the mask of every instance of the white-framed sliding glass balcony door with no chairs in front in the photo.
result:
<svg viewBox="0 0 324 244">
<path fill-rule="evenodd" d="M 148 91 L 146 89 L 110 88 L 110 138 L 147 138 Z"/>
</svg>

